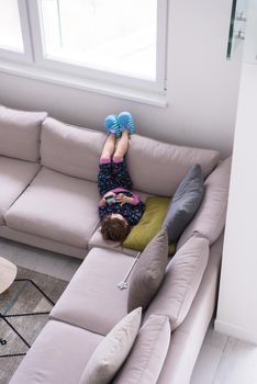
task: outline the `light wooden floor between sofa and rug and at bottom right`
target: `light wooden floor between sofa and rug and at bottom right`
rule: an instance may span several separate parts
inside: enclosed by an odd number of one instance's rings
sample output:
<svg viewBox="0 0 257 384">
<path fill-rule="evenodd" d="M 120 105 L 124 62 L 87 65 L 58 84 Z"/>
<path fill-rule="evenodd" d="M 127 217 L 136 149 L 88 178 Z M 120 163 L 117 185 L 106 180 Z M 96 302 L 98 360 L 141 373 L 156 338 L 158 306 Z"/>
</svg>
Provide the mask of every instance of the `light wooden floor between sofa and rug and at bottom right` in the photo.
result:
<svg viewBox="0 0 257 384">
<path fill-rule="evenodd" d="M 0 256 L 69 281 L 81 260 L 0 238 Z M 179 384 L 179 383 L 178 383 Z M 190 384 L 257 384 L 257 346 L 219 334 L 210 325 Z"/>
</svg>

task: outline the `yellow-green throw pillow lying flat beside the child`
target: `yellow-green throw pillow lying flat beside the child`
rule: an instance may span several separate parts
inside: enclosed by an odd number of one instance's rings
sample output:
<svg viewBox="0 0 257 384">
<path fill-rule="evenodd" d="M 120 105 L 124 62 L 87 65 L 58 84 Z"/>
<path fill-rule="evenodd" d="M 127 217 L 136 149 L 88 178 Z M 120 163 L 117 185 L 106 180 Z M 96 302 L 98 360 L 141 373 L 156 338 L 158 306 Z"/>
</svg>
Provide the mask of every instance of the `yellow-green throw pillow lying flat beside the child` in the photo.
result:
<svg viewBox="0 0 257 384">
<path fill-rule="evenodd" d="M 147 197 L 145 212 L 123 242 L 123 247 L 142 252 L 160 230 L 169 203 L 169 197 Z M 175 253 L 175 244 L 169 246 L 169 253 Z"/>
</svg>

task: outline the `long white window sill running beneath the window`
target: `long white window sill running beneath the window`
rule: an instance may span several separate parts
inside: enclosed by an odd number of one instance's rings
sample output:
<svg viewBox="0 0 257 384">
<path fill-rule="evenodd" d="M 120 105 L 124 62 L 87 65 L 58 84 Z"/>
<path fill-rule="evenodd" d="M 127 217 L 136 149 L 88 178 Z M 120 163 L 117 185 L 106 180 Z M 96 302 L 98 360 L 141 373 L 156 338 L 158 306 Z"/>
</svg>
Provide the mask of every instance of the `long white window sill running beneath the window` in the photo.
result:
<svg viewBox="0 0 257 384">
<path fill-rule="evenodd" d="M 83 79 L 68 74 L 51 71 L 35 66 L 0 60 L 0 72 L 26 77 L 30 79 L 79 89 L 87 92 L 94 92 L 119 99 L 132 100 L 149 105 L 156 105 L 160 108 L 167 106 L 165 94 L 159 94 L 154 91 L 130 89 L 127 87 L 110 84 L 103 81 Z"/>
</svg>

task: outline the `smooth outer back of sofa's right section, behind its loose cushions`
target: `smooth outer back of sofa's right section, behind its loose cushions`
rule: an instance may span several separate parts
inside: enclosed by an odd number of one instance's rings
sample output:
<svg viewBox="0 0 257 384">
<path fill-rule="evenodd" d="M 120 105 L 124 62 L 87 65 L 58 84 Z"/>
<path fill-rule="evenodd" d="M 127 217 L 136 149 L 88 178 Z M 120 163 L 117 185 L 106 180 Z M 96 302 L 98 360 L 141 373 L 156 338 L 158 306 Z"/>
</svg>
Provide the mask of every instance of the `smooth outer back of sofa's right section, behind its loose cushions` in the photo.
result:
<svg viewBox="0 0 257 384">
<path fill-rule="evenodd" d="M 179 328 L 172 332 L 158 384 L 190 383 L 195 360 L 216 306 L 222 245 L 223 236 L 210 249 L 208 267 L 190 310 Z M 192 382 L 195 383 L 193 380 Z M 208 379 L 203 379 L 202 383 L 208 382 Z"/>
</svg>

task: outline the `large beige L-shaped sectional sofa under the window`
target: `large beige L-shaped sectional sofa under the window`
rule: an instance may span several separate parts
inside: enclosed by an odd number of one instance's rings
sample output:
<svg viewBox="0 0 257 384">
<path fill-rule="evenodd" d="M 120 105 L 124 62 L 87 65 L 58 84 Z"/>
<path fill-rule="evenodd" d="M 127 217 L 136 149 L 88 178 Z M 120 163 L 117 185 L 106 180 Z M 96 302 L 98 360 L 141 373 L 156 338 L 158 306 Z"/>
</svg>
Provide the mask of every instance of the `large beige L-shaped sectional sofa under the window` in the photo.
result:
<svg viewBox="0 0 257 384">
<path fill-rule="evenodd" d="M 0 106 L 0 236 L 85 258 L 11 384 L 81 384 L 97 347 L 127 315 L 133 271 L 127 289 L 118 284 L 138 252 L 103 241 L 99 233 L 97 173 L 104 139 L 103 133 L 66 125 L 46 113 Z M 194 163 L 205 177 L 203 201 L 143 313 L 114 383 L 190 382 L 216 303 L 231 161 L 221 161 L 215 150 L 132 137 L 127 165 L 142 199 L 172 196 Z M 143 361 L 137 355 L 144 355 L 144 337 L 154 335 L 150 321 L 156 317 L 165 332 L 169 325 L 169 336 L 164 334 Z"/>
</svg>

